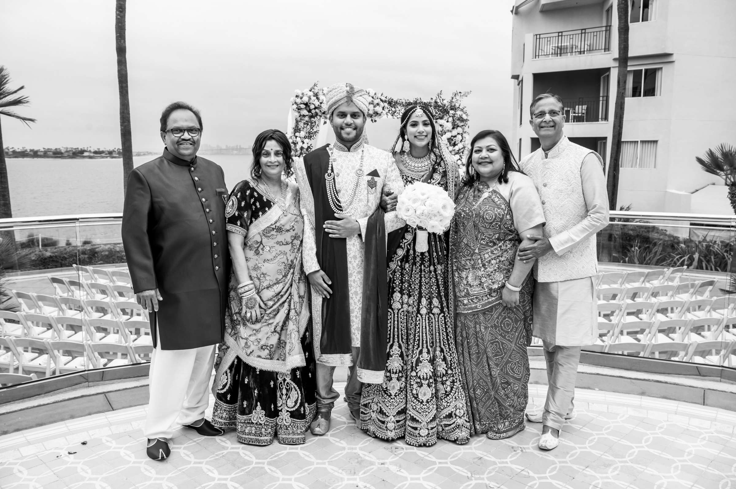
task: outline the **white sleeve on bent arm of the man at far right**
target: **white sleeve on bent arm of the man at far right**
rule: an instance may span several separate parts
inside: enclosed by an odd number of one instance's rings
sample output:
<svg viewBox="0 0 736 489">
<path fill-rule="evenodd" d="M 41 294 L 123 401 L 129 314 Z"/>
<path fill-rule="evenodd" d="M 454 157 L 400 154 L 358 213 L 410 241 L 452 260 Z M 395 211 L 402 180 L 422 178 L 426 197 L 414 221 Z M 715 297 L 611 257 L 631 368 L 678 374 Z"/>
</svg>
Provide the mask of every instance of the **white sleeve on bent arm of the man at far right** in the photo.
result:
<svg viewBox="0 0 736 489">
<path fill-rule="evenodd" d="M 559 255 L 565 254 L 582 240 L 590 238 L 590 236 L 608 226 L 606 177 L 598 154 L 589 153 L 585 157 L 580 168 L 580 180 L 583 185 L 583 198 L 588 213 L 575 226 L 549 238 L 552 248 Z"/>
</svg>

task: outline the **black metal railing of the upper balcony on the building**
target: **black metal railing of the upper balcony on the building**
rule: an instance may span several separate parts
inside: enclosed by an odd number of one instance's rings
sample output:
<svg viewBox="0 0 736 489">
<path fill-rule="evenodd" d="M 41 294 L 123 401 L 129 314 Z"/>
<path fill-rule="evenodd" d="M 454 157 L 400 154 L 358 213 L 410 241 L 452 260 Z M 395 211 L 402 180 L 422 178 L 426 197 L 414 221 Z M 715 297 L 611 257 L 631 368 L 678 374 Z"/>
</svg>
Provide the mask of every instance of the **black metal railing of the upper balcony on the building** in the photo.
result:
<svg viewBox="0 0 736 489">
<path fill-rule="evenodd" d="M 611 50 L 611 26 L 535 34 L 533 49 L 535 60 L 608 52 Z"/>
</svg>

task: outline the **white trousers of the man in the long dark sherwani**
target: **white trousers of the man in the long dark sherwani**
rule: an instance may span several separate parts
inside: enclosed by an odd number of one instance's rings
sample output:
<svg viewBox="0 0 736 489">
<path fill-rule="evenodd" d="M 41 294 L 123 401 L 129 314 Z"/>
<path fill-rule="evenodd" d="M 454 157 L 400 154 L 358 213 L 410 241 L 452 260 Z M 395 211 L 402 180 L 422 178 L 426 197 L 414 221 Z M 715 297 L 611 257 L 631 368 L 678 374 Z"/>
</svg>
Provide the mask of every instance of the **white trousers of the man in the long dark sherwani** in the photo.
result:
<svg viewBox="0 0 736 489">
<path fill-rule="evenodd" d="M 171 438 L 174 427 L 205 417 L 216 345 L 162 350 L 151 357 L 146 438 Z"/>
</svg>

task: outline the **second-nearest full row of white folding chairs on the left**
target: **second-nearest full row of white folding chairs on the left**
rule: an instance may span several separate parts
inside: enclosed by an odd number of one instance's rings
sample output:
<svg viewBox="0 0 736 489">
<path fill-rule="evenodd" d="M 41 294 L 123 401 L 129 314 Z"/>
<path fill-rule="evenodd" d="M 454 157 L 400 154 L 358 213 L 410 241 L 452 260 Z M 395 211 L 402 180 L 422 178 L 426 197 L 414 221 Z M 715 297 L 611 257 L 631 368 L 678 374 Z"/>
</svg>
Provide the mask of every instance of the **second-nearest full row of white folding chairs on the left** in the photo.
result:
<svg viewBox="0 0 736 489">
<path fill-rule="evenodd" d="M 90 305 L 90 302 L 85 301 L 88 307 L 93 309 L 94 305 Z M 110 304 L 102 302 L 99 307 L 107 306 Z M 0 311 L 0 332 L 3 337 L 67 340 L 77 343 L 85 341 L 152 343 L 150 322 L 145 316 L 137 314 L 141 312 L 140 305 L 127 302 L 112 304 L 112 307 L 113 312 L 107 317 L 52 316 Z M 127 309 L 128 307 L 130 309 Z"/>
</svg>

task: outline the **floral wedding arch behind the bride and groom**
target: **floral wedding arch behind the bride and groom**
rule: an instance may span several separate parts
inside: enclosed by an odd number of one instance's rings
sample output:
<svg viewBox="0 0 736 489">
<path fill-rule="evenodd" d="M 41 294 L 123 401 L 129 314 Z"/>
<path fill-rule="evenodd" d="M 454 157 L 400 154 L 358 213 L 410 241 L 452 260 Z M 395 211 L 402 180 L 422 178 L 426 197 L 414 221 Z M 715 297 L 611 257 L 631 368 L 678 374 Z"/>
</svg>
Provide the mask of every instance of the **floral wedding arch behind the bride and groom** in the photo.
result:
<svg viewBox="0 0 736 489">
<path fill-rule="evenodd" d="M 463 165 L 463 157 L 470 141 L 468 132 L 470 119 L 461 101 L 470 92 L 456 91 L 449 99 L 445 99 L 440 91 L 431 99 L 422 100 L 394 99 L 383 93 L 378 94 L 374 90 L 366 91 L 371 97 L 367 118 L 372 122 L 384 117 L 399 118 L 409 104 L 422 102 L 430 107 L 436 118 L 435 126 L 439 138 L 445 140 L 447 149 L 456 163 Z M 315 82 L 306 90 L 296 90 L 296 94 L 291 97 L 291 113 L 294 121 L 293 124 L 289 124 L 289 142 L 294 149 L 294 157 L 302 157 L 314 148 L 314 140 L 319 134 L 320 127 L 328 121 L 324 88 L 319 88 Z"/>
</svg>

